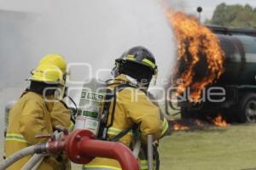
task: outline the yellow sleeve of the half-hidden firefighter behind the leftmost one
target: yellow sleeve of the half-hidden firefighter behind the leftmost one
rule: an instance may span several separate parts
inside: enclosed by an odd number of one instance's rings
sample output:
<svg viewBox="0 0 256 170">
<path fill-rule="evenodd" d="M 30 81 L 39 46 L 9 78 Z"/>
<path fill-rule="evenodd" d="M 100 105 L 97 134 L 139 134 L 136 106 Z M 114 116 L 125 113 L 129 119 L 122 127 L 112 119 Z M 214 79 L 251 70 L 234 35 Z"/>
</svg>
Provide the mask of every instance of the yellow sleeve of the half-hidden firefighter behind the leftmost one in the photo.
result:
<svg viewBox="0 0 256 170">
<path fill-rule="evenodd" d="M 50 113 L 50 119 L 53 127 L 61 125 L 62 127 L 69 127 L 71 124 L 70 113 L 66 105 L 61 101 L 55 102 L 53 110 Z"/>
</svg>

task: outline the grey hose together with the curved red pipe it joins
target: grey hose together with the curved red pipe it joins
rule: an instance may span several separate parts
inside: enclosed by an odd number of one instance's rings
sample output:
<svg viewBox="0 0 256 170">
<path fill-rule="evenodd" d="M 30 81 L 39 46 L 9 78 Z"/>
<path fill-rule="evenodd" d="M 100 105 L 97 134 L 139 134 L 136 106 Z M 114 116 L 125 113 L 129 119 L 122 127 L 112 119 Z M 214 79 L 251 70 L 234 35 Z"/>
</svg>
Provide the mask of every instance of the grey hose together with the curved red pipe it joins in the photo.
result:
<svg viewBox="0 0 256 170">
<path fill-rule="evenodd" d="M 6 169 L 28 155 L 35 153 L 54 155 L 61 151 L 65 151 L 71 161 L 79 164 L 89 163 L 98 156 L 119 161 L 123 170 L 139 170 L 137 159 L 128 147 L 118 142 L 97 140 L 88 130 L 75 130 L 73 133 L 65 134 L 61 141 L 50 139 L 47 143 L 35 144 L 20 150 L 0 163 L 0 170 Z"/>
</svg>

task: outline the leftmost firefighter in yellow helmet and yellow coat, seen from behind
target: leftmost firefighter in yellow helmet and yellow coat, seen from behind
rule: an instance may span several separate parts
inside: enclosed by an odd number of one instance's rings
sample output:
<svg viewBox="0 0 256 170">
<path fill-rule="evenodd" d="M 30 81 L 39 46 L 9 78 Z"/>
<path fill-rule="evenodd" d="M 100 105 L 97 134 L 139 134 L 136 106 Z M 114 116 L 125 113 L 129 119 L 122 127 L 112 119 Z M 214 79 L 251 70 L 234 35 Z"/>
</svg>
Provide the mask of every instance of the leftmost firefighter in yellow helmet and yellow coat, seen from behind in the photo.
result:
<svg viewBox="0 0 256 170">
<path fill-rule="evenodd" d="M 54 107 L 55 89 L 64 86 L 62 71 L 55 65 L 38 65 L 30 87 L 24 92 L 9 112 L 9 126 L 5 139 L 7 157 L 30 145 L 46 142 L 36 135 L 53 133 L 50 113 Z M 46 90 L 46 88 L 49 88 Z M 23 167 L 32 156 L 16 161 L 10 170 Z M 63 165 L 52 156 L 47 156 L 38 169 L 62 169 Z"/>
</svg>

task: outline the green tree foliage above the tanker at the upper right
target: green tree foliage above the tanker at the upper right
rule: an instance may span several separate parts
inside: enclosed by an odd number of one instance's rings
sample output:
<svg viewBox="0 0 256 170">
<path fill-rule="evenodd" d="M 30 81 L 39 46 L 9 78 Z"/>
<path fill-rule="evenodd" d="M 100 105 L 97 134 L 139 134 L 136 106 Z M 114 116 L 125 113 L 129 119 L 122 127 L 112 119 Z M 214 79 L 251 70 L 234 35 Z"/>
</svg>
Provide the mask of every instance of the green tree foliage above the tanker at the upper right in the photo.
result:
<svg viewBox="0 0 256 170">
<path fill-rule="evenodd" d="M 230 27 L 256 27 L 256 8 L 250 5 L 220 3 L 207 24 Z"/>
</svg>

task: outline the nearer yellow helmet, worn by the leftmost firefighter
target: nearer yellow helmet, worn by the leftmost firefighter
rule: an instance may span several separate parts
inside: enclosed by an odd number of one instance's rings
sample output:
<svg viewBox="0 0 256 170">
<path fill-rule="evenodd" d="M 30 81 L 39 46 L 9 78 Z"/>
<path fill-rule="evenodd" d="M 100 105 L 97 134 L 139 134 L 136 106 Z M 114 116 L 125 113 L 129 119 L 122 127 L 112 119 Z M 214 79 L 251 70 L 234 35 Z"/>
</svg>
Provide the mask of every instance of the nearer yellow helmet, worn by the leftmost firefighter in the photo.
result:
<svg viewBox="0 0 256 170">
<path fill-rule="evenodd" d="M 56 65 L 41 64 L 33 71 L 30 81 L 65 85 L 63 73 Z"/>
</svg>

